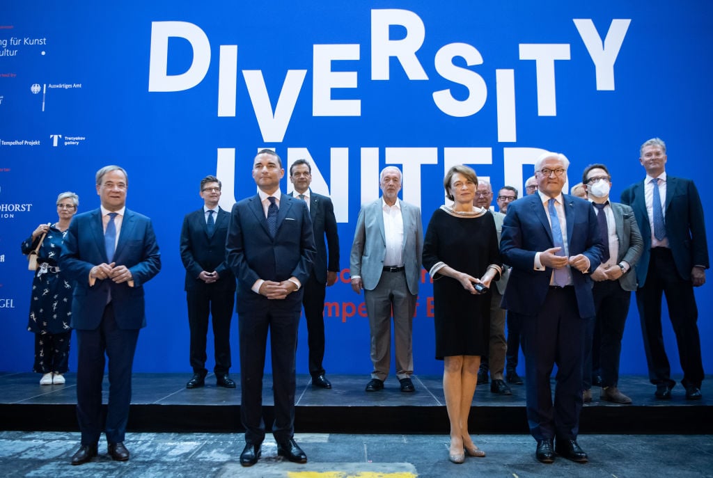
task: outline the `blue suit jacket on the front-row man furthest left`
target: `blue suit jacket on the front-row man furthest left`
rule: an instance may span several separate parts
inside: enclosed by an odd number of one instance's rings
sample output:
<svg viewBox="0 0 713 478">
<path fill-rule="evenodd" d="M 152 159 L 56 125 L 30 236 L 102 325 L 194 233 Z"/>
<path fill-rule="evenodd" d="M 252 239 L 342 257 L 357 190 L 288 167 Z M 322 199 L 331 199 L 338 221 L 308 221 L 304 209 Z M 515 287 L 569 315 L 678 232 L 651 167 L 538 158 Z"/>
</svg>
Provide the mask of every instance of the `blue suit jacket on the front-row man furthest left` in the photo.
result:
<svg viewBox="0 0 713 478">
<path fill-rule="evenodd" d="M 117 266 L 126 266 L 131 271 L 133 287 L 128 282 L 115 284 L 111 279 L 97 279 L 90 286 L 91 268 L 109 262 L 104 248 L 101 209 L 73 217 L 60 258 L 62 273 L 76 281 L 72 301 L 72 328 L 96 329 L 101 323 L 110 293 L 119 328 L 138 329 L 146 326 L 143 284 L 161 269 L 160 252 L 151 219 L 129 209 L 124 210 L 113 261 Z"/>
</svg>

